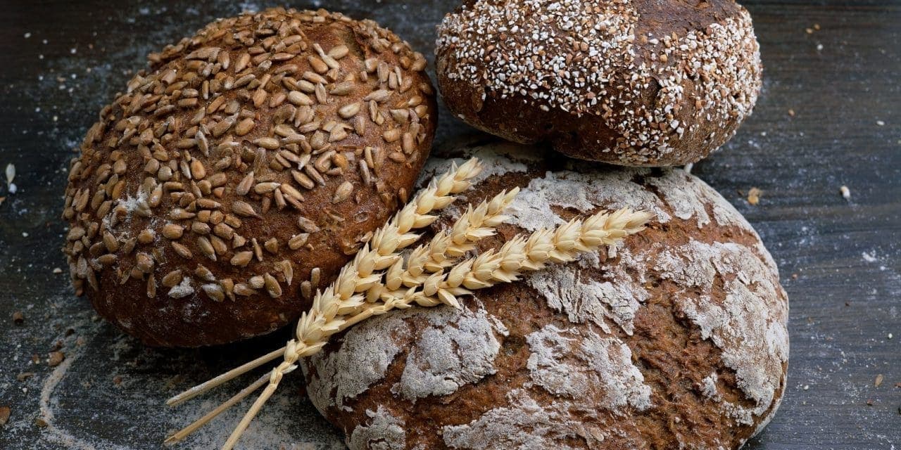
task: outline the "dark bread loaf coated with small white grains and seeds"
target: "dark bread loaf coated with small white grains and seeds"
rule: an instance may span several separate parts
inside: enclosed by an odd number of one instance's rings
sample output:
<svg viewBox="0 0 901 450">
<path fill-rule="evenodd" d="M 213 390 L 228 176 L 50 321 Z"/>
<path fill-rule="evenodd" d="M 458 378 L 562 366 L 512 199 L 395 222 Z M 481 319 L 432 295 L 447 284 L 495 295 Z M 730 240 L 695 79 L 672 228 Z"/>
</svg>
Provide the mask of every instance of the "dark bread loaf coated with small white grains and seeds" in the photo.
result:
<svg viewBox="0 0 901 450">
<path fill-rule="evenodd" d="M 435 52 L 463 121 L 624 166 L 706 157 L 761 85 L 751 15 L 732 0 L 469 0 L 445 16 Z"/>
</svg>

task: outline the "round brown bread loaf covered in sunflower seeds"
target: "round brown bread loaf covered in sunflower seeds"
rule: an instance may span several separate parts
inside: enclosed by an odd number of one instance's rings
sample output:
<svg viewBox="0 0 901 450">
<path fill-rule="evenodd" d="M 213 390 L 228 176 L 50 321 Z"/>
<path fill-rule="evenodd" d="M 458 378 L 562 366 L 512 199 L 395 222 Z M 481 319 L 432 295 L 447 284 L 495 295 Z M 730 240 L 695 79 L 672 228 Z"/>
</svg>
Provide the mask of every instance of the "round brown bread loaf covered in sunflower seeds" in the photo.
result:
<svg viewBox="0 0 901 450">
<path fill-rule="evenodd" d="M 278 329 L 406 201 L 437 121 L 423 55 L 270 9 L 150 55 L 72 161 L 77 293 L 153 346 Z"/>
</svg>

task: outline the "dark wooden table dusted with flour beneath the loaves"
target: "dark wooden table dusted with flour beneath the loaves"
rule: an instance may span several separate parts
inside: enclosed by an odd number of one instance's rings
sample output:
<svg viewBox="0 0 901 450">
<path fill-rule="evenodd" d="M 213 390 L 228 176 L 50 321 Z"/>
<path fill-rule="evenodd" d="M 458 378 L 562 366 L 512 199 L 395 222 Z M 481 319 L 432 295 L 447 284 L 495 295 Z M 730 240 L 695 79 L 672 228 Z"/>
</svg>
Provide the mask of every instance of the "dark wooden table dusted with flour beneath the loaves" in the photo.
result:
<svg viewBox="0 0 901 450">
<path fill-rule="evenodd" d="M 434 25 L 454 3 L 315 6 L 376 19 L 430 54 Z M 12 410 L 0 448 L 158 448 L 168 431 L 238 386 L 179 410 L 162 406 L 168 395 L 287 338 L 204 350 L 141 347 L 97 320 L 70 293 L 67 275 L 54 274 L 68 271 L 59 252 L 68 159 L 96 112 L 151 49 L 259 7 L 19 0 L 0 8 L 0 170 L 14 163 L 18 171 L 17 193 L 0 185 L 0 407 Z M 735 139 L 694 173 L 757 227 L 791 299 L 785 400 L 748 447 L 901 447 L 901 5 L 747 7 L 766 66 L 763 93 Z M 451 148 L 485 138 L 445 113 L 436 142 Z M 745 199 L 751 187 L 762 190 L 756 206 Z M 22 324 L 14 311 L 23 312 Z M 54 350 L 66 357 L 50 366 Z M 296 378 L 251 426 L 249 447 L 342 447 Z M 214 448 L 241 410 L 185 448 Z"/>
</svg>

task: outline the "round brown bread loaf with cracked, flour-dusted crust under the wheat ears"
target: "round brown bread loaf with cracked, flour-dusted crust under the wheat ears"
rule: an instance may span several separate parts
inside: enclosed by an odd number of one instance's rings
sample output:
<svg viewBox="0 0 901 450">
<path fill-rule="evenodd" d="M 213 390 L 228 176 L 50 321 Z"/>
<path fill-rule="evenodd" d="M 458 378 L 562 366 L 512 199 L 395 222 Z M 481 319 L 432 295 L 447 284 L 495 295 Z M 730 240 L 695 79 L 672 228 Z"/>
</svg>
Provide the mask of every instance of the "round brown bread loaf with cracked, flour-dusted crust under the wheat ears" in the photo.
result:
<svg viewBox="0 0 901 450">
<path fill-rule="evenodd" d="M 786 386 L 787 297 L 723 197 L 681 170 L 578 173 L 534 150 L 470 152 L 488 165 L 470 202 L 523 189 L 483 250 L 604 208 L 657 217 L 619 248 L 478 291 L 462 311 L 368 320 L 305 361 L 310 398 L 351 450 L 731 449 L 769 422 Z"/>
</svg>

